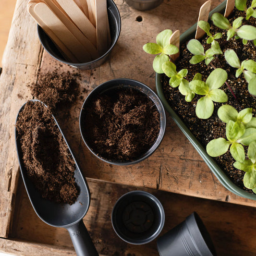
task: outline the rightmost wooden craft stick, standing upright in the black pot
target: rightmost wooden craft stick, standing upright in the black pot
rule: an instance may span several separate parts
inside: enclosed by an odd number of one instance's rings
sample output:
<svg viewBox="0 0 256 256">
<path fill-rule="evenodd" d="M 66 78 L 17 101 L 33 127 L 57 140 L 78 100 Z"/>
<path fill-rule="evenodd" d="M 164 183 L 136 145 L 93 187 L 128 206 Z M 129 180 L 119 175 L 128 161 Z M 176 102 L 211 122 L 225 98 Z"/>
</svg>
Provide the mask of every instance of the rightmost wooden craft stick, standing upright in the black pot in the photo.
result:
<svg viewBox="0 0 256 256">
<path fill-rule="evenodd" d="M 97 49 L 99 55 L 103 55 L 108 50 L 108 19 L 107 1 L 96 1 L 96 32 L 97 32 Z"/>
</svg>

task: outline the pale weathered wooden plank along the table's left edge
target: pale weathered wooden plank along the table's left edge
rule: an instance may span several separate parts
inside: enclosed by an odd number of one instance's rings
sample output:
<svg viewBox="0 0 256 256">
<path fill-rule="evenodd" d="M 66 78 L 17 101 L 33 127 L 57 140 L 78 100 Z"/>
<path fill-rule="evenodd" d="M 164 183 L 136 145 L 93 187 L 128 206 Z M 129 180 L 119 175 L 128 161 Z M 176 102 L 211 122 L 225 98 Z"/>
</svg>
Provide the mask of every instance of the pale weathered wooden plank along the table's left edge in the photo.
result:
<svg viewBox="0 0 256 256">
<path fill-rule="evenodd" d="M 0 237 L 8 235 L 19 175 L 13 124 L 22 102 L 31 98 L 25 85 L 37 81 L 41 53 L 26 1 L 17 0 L 0 75 Z"/>
</svg>

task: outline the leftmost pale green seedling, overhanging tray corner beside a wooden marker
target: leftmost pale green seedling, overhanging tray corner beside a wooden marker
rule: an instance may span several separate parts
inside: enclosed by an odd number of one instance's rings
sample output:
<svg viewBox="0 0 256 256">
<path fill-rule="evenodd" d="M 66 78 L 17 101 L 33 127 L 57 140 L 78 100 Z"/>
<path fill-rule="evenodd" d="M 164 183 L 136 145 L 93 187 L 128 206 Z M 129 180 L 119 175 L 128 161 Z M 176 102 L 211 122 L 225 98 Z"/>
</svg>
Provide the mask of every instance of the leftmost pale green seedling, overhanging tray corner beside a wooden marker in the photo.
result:
<svg viewBox="0 0 256 256">
<path fill-rule="evenodd" d="M 179 52 L 179 48 L 177 46 L 169 43 L 171 35 L 172 31 L 170 29 L 166 29 L 157 35 L 157 43 L 147 43 L 143 46 L 146 53 L 158 54 L 153 61 L 153 69 L 157 73 L 164 73 L 162 70 L 162 64 L 169 61 L 169 55 Z"/>
</svg>

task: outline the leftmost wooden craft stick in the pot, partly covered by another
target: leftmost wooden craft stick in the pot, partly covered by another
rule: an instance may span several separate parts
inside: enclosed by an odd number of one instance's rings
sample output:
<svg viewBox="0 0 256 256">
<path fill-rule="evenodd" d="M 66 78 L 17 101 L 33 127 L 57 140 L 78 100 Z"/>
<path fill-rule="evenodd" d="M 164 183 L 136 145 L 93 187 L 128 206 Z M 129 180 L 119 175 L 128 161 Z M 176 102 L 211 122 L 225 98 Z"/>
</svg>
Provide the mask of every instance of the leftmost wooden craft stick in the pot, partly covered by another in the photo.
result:
<svg viewBox="0 0 256 256">
<path fill-rule="evenodd" d="M 27 11 L 35 19 L 37 24 L 39 24 L 39 26 L 41 26 L 41 28 L 45 31 L 45 33 L 51 38 L 51 40 L 56 45 L 56 47 L 60 50 L 64 58 L 67 61 L 78 63 L 79 61 L 75 58 L 73 53 L 69 49 L 67 49 L 67 47 L 61 42 L 61 40 L 49 29 L 49 27 L 34 12 L 34 7 L 36 4 L 37 4 L 36 1 L 30 1 L 30 3 L 28 3 L 27 5 Z"/>
</svg>

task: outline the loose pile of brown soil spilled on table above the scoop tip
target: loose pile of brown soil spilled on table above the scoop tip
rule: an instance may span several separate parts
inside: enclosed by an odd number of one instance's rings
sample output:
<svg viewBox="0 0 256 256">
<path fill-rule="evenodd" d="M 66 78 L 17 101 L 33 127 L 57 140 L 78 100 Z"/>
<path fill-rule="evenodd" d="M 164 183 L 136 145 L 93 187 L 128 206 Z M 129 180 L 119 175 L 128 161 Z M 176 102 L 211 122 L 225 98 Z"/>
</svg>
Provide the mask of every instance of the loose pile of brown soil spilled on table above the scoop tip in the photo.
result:
<svg viewBox="0 0 256 256">
<path fill-rule="evenodd" d="M 33 97 L 44 102 L 50 110 L 54 111 L 61 103 L 71 103 L 77 97 L 79 73 L 62 72 L 54 70 L 39 75 L 37 83 L 29 85 Z"/>
</svg>

